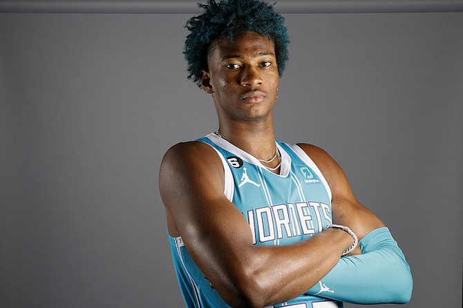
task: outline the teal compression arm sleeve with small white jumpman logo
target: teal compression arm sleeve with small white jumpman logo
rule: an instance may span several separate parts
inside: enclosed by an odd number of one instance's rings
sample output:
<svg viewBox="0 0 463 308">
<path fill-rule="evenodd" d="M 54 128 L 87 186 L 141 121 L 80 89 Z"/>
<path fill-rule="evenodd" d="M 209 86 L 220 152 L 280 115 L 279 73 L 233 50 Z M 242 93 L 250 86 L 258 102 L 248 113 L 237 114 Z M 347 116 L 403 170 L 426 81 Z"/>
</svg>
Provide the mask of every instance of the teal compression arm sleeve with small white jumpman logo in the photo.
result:
<svg viewBox="0 0 463 308">
<path fill-rule="evenodd" d="M 413 279 L 404 253 L 387 227 L 359 241 L 362 254 L 343 257 L 307 293 L 355 304 L 405 303 Z"/>
</svg>

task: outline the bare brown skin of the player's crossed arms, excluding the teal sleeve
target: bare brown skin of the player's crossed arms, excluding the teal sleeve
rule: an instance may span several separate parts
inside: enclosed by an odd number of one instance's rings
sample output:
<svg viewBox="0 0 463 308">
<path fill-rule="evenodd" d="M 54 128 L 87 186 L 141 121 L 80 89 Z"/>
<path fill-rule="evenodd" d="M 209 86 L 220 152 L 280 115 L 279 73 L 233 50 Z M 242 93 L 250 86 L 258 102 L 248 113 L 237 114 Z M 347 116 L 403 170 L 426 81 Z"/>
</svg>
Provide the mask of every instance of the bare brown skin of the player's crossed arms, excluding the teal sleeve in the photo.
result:
<svg viewBox="0 0 463 308">
<path fill-rule="evenodd" d="M 334 223 L 347 225 L 359 238 L 384 227 L 355 200 L 341 168 L 328 154 L 314 146 L 301 148 L 330 184 Z M 294 244 L 253 245 L 247 221 L 225 198 L 223 186 L 222 163 L 207 144 L 178 144 L 164 156 L 160 191 L 169 233 L 182 236 L 198 267 L 233 307 L 263 307 L 307 292 L 335 269 L 352 244 L 347 233 L 327 229 Z M 359 253 L 357 249 L 352 254 Z"/>
</svg>

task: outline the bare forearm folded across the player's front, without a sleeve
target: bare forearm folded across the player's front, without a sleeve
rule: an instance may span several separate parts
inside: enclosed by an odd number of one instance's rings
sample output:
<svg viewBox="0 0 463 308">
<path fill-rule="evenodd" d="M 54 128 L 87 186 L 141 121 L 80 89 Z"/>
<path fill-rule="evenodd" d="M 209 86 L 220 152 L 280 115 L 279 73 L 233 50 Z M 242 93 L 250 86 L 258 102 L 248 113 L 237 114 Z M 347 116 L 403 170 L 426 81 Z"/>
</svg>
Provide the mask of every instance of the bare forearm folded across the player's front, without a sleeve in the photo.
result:
<svg viewBox="0 0 463 308">
<path fill-rule="evenodd" d="M 238 264 L 229 273 L 236 287 L 230 295 L 243 294 L 247 298 L 245 307 L 263 307 L 296 298 L 323 278 L 350 244 L 352 238 L 347 233 L 328 229 L 294 244 L 253 245 L 252 251 L 245 252 L 249 253 L 249 262 L 243 267 Z M 301 272 L 308 274 L 298 275 Z M 216 289 L 227 301 L 229 292 Z M 230 305 L 236 298 L 229 300 Z"/>
</svg>

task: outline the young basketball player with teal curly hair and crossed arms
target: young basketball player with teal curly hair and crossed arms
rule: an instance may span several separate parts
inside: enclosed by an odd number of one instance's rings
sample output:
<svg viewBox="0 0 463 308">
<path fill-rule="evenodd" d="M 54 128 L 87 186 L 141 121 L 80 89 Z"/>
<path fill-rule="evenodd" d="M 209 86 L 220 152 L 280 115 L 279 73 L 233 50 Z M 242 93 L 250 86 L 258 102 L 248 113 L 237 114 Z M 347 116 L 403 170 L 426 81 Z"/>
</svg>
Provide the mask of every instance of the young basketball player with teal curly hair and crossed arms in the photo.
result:
<svg viewBox="0 0 463 308">
<path fill-rule="evenodd" d="M 275 141 L 283 17 L 258 0 L 201 7 L 187 23 L 185 55 L 219 128 L 173 146 L 160 170 L 187 307 L 408 302 L 404 255 L 341 167 L 316 146 Z"/>
</svg>

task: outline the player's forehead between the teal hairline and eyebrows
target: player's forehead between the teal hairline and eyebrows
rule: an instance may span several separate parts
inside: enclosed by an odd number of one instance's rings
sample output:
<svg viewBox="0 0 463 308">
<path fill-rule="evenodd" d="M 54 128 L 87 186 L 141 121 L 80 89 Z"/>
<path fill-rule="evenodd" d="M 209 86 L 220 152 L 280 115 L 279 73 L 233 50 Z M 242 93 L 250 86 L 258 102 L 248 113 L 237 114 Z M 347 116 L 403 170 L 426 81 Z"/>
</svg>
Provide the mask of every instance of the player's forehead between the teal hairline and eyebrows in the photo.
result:
<svg viewBox="0 0 463 308">
<path fill-rule="evenodd" d="M 234 36 L 233 41 L 223 37 L 216 39 L 209 50 L 209 59 L 222 59 L 228 56 L 245 56 L 268 53 L 274 55 L 275 46 L 272 39 L 256 32 L 242 32 Z"/>
</svg>

